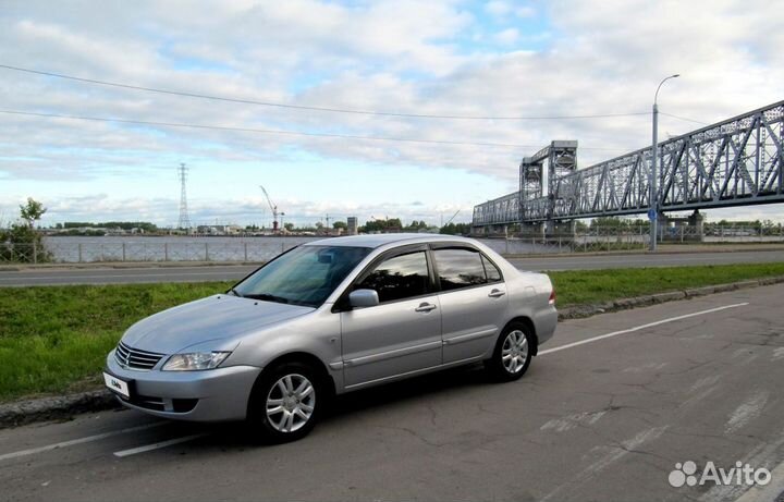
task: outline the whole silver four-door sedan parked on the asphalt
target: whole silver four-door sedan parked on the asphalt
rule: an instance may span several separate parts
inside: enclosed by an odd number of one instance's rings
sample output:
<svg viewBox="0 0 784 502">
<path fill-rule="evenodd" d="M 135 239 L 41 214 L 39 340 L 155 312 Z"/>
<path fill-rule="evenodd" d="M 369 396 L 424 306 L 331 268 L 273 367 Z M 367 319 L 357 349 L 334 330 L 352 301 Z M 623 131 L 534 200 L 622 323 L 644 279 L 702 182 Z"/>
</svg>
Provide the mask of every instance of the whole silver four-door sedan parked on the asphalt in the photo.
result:
<svg viewBox="0 0 784 502">
<path fill-rule="evenodd" d="M 103 377 L 125 406 L 289 441 L 335 394 L 478 362 L 518 379 L 555 331 L 554 304 L 547 276 L 470 238 L 327 238 L 135 323 Z"/>
</svg>

